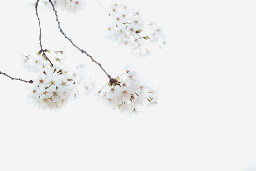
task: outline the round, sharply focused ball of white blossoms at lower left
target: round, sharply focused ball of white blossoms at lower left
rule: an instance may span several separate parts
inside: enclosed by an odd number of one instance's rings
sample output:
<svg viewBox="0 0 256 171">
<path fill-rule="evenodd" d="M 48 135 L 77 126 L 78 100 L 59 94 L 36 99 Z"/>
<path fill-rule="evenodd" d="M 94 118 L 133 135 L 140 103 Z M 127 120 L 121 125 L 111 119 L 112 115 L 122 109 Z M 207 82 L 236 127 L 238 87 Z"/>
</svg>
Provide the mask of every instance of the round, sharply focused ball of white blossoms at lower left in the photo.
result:
<svg viewBox="0 0 256 171">
<path fill-rule="evenodd" d="M 76 85 L 73 84 L 72 79 L 69 79 L 68 71 L 62 72 L 53 68 L 53 71 L 51 69 L 47 74 L 40 74 L 33 82 L 33 88 L 26 88 L 29 91 L 27 94 L 29 101 L 42 110 L 58 110 L 75 94 Z"/>
</svg>

